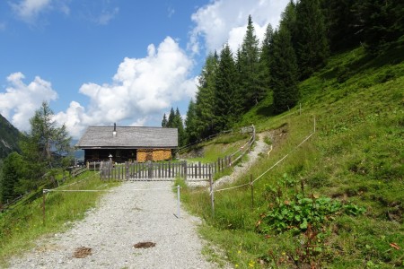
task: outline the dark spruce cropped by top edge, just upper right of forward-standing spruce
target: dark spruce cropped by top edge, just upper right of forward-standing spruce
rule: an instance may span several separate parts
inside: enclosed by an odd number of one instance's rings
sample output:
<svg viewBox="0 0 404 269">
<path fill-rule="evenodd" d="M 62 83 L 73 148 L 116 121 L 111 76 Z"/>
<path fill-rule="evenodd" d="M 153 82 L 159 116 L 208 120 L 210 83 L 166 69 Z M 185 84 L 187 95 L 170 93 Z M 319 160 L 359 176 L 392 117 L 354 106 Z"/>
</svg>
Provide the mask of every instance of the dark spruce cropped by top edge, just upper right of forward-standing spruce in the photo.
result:
<svg viewBox="0 0 404 269">
<path fill-rule="evenodd" d="M 301 79 L 325 65 L 329 44 L 319 0 L 301 0 L 296 5 L 296 57 Z"/>
</svg>

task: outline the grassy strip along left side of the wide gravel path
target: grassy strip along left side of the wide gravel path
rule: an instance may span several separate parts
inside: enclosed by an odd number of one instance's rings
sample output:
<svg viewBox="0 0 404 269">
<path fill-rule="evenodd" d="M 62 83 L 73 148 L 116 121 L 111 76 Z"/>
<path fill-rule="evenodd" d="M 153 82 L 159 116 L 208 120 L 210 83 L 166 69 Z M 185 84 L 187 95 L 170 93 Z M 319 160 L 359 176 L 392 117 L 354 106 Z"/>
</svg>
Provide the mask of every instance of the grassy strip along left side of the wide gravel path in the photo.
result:
<svg viewBox="0 0 404 269">
<path fill-rule="evenodd" d="M 117 186 L 103 182 L 98 173 L 87 171 L 72 178 L 58 189 L 106 190 Z M 83 219 L 85 212 L 96 206 L 102 192 L 50 192 L 46 195 L 46 219 L 43 222 L 43 199 L 40 198 L 0 214 L 0 265 L 14 255 L 33 246 L 35 239 L 67 230 L 73 221 Z"/>
</svg>

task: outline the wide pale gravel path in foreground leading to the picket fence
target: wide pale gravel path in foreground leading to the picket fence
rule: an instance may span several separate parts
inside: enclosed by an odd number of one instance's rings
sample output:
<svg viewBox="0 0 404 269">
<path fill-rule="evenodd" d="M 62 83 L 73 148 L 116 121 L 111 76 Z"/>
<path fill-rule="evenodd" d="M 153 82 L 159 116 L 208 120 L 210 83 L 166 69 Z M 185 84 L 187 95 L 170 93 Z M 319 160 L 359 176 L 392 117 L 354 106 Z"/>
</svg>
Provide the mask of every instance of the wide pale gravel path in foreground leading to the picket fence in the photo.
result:
<svg viewBox="0 0 404 269">
<path fill-rule="evenodd" d="M 10 268 L 215 268 L 201 255 L 200 220 L 177 214 L 171 182 L 125 182 L 101 199 L 97 209 L 71 230 L 41 239 L 37 247 L 15 257 Z M 165 189 L 155 189 L 165 188 Z M 142 189 L 134 191 L 135 189 Z M 139 242 L 154 247 L 136 248 Z M 74 257 L 78 247 L 91 254 Z M 90 251 L 90 250 L 89 250 Z"/>
</svg>

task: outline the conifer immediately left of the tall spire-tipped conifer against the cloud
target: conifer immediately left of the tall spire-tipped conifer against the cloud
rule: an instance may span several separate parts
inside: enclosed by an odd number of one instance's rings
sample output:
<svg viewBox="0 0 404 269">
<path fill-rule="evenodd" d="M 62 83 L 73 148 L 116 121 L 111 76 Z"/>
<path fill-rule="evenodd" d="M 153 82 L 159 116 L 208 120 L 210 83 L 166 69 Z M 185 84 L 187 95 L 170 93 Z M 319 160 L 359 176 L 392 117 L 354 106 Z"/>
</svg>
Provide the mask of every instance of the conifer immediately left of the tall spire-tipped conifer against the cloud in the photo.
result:
<svg viewBox="0 0 404 269">
<path fill-rule="evenodd" d="M 237 92 L 236 67 L 233 53 L 228 44 L 220 53 L 220 60 L 215 74 L 215 131 L 230 128 L 240 117 L 241 98 Z"/>
</svg>

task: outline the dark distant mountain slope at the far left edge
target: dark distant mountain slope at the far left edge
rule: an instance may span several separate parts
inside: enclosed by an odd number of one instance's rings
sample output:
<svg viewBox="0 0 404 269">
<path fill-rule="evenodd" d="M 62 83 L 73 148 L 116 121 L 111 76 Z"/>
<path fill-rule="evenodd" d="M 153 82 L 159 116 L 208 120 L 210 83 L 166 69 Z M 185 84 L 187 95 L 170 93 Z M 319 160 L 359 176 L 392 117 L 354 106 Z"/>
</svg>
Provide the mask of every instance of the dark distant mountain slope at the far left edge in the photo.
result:
<svg viewBox="0 0 404 269">
<path fill-rule="evenodd" d="M 11 152 L 20 152 L 20 135 L 20 131 L 0 114 L 0 159 L 4 159 Z"/>
</svg>

